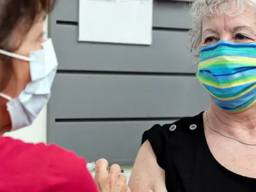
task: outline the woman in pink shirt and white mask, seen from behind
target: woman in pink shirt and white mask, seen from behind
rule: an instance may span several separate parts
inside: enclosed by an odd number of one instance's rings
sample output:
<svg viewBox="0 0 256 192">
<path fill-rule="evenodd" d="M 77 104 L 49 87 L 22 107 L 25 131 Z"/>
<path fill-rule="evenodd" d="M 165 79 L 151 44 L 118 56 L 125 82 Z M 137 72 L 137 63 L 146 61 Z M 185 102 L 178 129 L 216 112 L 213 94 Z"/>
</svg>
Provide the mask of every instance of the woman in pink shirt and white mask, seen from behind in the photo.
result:
<svg viewBox="0 0 256 192">
<path fill-rule="evenodd" d="M 0 1 L 0 136 L 31 125 L 49 100 L 58 62 L 42 31 L 55 0 Z M 120 166 L 97 162 L 95 184 L 86 161 L 56 145 L 0 137 L 0 191 L 129 191 Z"/>
</svg>

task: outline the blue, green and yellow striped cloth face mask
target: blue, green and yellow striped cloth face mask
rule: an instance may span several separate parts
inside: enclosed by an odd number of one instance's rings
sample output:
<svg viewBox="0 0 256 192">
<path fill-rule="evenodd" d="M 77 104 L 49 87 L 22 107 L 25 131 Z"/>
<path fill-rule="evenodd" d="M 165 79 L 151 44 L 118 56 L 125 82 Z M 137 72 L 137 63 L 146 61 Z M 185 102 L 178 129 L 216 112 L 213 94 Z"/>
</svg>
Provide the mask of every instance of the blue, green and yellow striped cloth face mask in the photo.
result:
<svg viewBox="0 0 256 192">
<path fill-rule="evenodd" d="M 202 47 L 196 76 L 220 108 L 246 111 L 256 103 L 256 44 L 221 40 Z"/>
</svg>

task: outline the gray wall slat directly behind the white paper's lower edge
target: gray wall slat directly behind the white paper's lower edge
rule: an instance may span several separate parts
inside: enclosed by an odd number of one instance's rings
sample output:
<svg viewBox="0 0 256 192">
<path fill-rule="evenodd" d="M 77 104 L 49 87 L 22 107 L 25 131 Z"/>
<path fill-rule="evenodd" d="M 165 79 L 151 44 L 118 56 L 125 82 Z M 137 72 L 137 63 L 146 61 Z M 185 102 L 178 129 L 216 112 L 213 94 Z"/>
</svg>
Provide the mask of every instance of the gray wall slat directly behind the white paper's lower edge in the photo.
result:
<svg viewBox="0 0 256 192">
<path fill-rule="evenodd" d="M 56 26 L 52 39 L 61 70 L 196 72 L 186 31 L 153 31 L 151 46 L 77 43 L 77 26 Z"/>
</svg>

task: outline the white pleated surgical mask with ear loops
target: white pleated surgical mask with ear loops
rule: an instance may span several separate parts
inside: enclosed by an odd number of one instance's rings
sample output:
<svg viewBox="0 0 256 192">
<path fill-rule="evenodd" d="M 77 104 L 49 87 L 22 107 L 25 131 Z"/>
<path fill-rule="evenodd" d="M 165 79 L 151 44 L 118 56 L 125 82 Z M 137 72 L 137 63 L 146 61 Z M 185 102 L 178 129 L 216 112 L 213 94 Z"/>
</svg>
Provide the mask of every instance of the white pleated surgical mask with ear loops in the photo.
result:
<svg viewBox="0 0 256 192">
<path fill-rule="evenodd" d="M 51 39 L 44 42 L 42 47 L 42 50 L 30 52 L 29 58 L 0 49 L 0 54 L 29 61 L 30 67 L 31 82 L 27 84 L 19 97 L 11 98 L 0 93 L 0 97 L 9 100 L 7 109 L 12 121 L 11 131 L 31 125 L 51 96 L 51 86 L 56 75 L 58 61 Z"/>
</svg>

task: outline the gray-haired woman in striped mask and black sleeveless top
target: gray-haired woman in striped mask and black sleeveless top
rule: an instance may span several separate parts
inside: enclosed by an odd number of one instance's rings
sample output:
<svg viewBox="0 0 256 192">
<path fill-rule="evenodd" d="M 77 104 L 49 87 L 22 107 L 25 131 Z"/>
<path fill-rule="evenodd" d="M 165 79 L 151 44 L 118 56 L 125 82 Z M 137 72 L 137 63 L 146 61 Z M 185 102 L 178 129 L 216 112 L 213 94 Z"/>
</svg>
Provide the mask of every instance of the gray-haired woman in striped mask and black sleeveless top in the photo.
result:
<svg viewBox="0 0 256 192">
<path fill-rule="evenodd" d="M 256 1 L 197 0 L 191 48 L 210 108 L 143 134 L 131 191 L 256 190 Z"/>
</svg>

